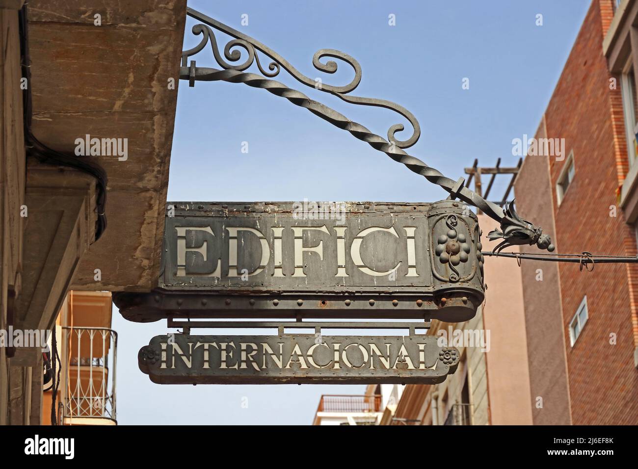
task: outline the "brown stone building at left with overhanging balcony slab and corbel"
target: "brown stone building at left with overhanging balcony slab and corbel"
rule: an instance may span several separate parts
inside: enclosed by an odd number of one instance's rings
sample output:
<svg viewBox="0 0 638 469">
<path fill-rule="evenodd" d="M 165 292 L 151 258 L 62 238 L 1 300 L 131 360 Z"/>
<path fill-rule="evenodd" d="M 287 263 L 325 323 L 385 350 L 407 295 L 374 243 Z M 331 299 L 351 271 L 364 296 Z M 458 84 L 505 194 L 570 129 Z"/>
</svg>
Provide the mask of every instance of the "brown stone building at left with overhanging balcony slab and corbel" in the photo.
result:
<svg viewBox="0 0 638 469">
<path fill-rule="evenodd" d="M 102 3 L 108 14 L 96 34 L 82 3 L 29 1 L 23 82 L 19 10 L 25 2 L 0 0 L 1 329 L 52 328 L 70 285 L 147 291 L 158 278 L 177 84 L 168 89 L 157 80 L 179 75 L 186 0 Z M 154 53 L 139 56 L 149 44 Z M 78 73 L 104 63 L 107 46 L 116 52 L 108 73 Z M 94 77 L 104 80 L 87 87 Z M 122 100 L 122 89 L 141 91 Z M 108 174 L 108 229 L 98 240 L 94 175 L 56 158 L 35 158 L 45 149 L 30 151 L 27 160 L 22 100 L 29 96 L 36 116 L 31 133 L 45 147 L 71 155 L 75 139 L 86 134 L 135 142 L 135 162 L 91 158 Z M 131 197 L 140 203 L 122 202 Z M 40 423 L 41 357 L 37 347 L 0 347 L 0 425 Z"/>
</svg>

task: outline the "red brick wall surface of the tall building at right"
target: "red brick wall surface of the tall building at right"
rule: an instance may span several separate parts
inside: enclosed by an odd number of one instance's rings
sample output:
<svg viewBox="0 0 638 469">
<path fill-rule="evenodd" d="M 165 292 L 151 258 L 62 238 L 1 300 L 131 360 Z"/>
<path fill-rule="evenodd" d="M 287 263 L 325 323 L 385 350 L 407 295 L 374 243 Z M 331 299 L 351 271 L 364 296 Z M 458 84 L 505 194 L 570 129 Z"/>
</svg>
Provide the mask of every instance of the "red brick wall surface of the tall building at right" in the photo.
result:
<svg viewBox="0 0 638 469">
<path fill-rule="evenodd" d="M 633 228 L 618 211 L 616 189 L 627 172 L 619 89 L 609 89 L 602 53 L 611 1 L 594 0 L 545 113 L 547 136 L 565 138 L 565 160 L 550 159 L 551 187 L 574 151 L 575 177 L 554 205 L 561 253 L 636 255 Z M 638 423 L 638 371 L 634 368 L 635 265 L 599 264 L 593 272 L 559 264 L 563 331 L 574 424 Z M 570 346 L 569 323 L 587 295 L 589 320 Z M 632 316 L 633 313 L 633 316 Z M 610 334 L 616 334 L 611 345 Z M 533 359 L 533 357 L 532 357 Z"/>
</svg>

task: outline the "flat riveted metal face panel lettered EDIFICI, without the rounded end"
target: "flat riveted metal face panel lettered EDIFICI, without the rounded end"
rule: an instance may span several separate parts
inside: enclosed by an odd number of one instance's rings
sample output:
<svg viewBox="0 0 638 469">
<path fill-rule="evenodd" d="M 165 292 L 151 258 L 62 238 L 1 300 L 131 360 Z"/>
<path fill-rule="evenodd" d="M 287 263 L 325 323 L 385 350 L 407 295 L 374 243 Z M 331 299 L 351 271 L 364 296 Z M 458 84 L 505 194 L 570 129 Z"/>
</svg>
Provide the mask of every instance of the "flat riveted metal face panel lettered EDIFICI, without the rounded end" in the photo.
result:
<svg viewBox="0 0 638 469">
<path fill-rule="evenodd" d="M 167 218 L 164 288 L 375 292 L 432 285 L 422 205 L 369 212 L 307 201 L 202 206 L 193 212 L 177 205 L 186 216 Z"/>
</svg>

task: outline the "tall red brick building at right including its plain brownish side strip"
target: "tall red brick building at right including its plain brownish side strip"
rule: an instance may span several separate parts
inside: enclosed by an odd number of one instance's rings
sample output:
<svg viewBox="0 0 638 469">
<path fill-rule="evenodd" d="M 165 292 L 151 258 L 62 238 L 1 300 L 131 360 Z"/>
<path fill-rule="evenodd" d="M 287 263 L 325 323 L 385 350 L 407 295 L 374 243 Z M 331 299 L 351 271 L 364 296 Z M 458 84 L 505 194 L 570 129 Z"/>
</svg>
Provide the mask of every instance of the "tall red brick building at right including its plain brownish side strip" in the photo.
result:
<svg viewBox="0 0 638 469">
<path fill-rule="evenodd" d="M 637 255 L 637 20 L 638 1 L 591 3 L 535 135 L 562 151 L 528 154 L 517 177 L 519 213 L 557 253 Z M 638 422 L 638 265 L 521 274 L 534 424 Z"/>
</svg>

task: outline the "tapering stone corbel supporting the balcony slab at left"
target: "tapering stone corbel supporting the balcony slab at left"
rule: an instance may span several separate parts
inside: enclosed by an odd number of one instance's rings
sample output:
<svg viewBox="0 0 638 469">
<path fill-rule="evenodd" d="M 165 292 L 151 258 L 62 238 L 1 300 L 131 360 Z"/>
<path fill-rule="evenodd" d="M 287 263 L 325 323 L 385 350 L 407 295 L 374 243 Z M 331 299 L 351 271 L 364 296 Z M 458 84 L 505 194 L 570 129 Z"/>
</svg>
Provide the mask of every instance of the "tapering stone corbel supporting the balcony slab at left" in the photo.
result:
<svg viewBox="0 0 638 469">
<path fill-rule="evenodd" d="M 50 329 L 94 239 L 96 182 L 70 168 L 29 165 L 27 170 L 22 291 L 15 328 Z"/>
</svg>

